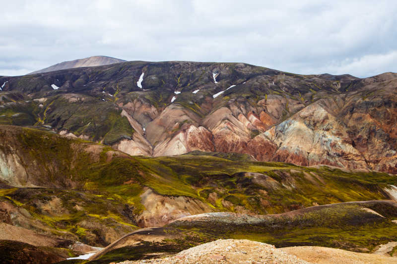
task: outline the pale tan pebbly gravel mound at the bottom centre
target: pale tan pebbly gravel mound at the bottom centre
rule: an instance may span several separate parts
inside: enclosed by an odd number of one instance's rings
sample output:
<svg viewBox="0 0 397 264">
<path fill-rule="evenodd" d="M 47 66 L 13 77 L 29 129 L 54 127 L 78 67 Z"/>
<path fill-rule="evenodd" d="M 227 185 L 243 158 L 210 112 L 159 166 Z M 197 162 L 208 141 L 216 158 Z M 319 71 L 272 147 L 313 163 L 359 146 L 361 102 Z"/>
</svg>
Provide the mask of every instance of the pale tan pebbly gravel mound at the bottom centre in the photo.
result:
<svg viewBox="0 0 397 264">
<path fill-rule="evenodd" d="M 309 264 L 293 255 L 276 249 L 272 245 L 251 240 L 219 239 L 199 245 L 164 259 L 125 261 L 119 264 L 209 264 L 209 263 L 250 263 L 250 264 Z"/>
</svg>

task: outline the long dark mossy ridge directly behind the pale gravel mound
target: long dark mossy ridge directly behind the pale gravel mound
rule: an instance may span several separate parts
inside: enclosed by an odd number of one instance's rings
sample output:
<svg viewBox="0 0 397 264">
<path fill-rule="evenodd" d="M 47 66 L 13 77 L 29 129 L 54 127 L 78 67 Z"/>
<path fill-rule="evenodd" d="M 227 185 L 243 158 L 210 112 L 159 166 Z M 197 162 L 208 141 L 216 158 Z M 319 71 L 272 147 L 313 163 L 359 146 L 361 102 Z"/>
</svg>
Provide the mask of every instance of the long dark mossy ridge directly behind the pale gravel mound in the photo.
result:
<svg viewBox="0 0 397 264">
<path fill-rule="evenodd" d="M 90 263 L 161 258 L 230 238 L 276 247 L 323 246 L 372 252 L 377 245 L 397 239 L 396 217 L 397 203 L 392 201 L 333 204 L 268 215 L 205 213 L 161 228 L 137 230 L 92 256 Z"/>
</svg>

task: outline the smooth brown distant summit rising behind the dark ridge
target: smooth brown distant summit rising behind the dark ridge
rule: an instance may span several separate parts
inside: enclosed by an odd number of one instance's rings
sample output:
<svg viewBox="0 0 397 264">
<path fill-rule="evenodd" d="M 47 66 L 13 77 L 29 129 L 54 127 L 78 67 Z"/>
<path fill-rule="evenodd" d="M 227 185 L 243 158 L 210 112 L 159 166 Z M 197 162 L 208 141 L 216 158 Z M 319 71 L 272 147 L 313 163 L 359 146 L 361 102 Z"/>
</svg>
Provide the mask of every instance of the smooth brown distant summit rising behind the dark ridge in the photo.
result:
<svg viewBox="0 0 397 264">
<path fill-rule="evenodd" d="M 91 66 L 101 66 L 101 65 L 108 65 L 113 63 L 125 62 L 124 59 L 118 59 L 113 57 L 107 56 L 92 56 L 88 58 L 81 58 L 75 59 L 70 61 L 64 61 L 61 63 L 57 63 L 50 67 L 37 70 L 28 74 L 35 74 L 35 73 L 43 73 L 49 71 L 57 71 L 57 70 L 64 70 L 64 69 L 71 69 L 71 68 L 79 68 L 79 67 L 91 67 Z M 27 74 L 27 75 L 28 75 Z"/>
</svg>

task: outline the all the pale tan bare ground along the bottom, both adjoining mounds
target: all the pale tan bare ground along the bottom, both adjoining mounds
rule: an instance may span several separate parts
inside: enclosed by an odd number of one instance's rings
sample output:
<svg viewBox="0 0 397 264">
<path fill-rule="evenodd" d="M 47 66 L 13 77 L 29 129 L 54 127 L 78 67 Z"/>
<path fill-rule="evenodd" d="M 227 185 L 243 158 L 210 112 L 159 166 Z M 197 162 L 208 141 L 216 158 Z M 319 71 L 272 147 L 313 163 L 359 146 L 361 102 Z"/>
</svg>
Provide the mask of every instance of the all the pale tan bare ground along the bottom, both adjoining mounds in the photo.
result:
<svg viewBox="0 0 397 264">
<path fill-rule="evenodd" d="M 266 264 L 394 264 L 396 263 L 396 259 L 324 247 L 275 249 L 274 246 L 250 240 L 220 239 L 184 250 L 173 257 L 145 261 L 145 263 L 158 264 L 209 264 L 217 262 Z M 126 261 L 119 264 L 138 263 L 142 262 Z"/>
</svg>

